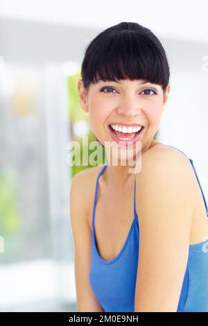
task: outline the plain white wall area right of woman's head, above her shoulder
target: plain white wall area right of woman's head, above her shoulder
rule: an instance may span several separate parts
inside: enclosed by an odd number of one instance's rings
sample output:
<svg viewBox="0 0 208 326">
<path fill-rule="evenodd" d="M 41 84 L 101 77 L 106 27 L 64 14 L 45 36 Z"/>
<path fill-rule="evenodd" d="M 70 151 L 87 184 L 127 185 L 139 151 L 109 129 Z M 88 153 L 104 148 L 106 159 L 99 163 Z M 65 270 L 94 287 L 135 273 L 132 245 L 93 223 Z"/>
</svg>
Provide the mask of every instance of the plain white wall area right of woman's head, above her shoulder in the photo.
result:
<svg viewBox="0 0 208 326">
<path fill-rule="evenodd" d="M 161 141 L 193 160 L 208 203 L 208 72 L 174 69 L 160 126 Z"/>
</svg>

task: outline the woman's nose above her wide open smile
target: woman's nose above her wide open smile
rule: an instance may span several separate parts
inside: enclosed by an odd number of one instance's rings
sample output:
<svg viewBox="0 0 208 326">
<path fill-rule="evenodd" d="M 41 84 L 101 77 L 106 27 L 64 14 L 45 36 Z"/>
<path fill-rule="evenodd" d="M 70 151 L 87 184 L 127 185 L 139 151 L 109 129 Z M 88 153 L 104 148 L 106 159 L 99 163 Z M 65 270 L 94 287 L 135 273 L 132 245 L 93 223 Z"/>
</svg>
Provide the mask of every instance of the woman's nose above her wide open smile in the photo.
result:
<svg viewBox="0 0 208 326">
<path fill-rule="evenodd" d="M 121 103 L 119 103 L 116 112 L 119 115 L 125 117 L 135 117 L 141 114 L 141 103 L 139 103 L 138 98 L 132 98 L 132 96 L 126 96 L 122 98 Z"/>
</svg>

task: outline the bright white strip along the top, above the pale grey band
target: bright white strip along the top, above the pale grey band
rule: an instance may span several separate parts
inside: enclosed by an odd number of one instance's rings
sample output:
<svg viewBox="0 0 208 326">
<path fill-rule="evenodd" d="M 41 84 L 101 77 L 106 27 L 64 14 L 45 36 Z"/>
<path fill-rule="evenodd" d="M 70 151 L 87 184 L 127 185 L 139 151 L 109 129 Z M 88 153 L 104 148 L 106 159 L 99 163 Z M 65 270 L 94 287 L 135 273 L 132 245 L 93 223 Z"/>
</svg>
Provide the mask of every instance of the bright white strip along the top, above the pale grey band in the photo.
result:
<svg viewBox="0 0 208 326">
<path fill-rule="evenodd" d="M 1 17 L 34 22 L 107 28 L 138 22 L 166 38 L 208 42 L 206 0 L 1 0 Z"/>
</svg>

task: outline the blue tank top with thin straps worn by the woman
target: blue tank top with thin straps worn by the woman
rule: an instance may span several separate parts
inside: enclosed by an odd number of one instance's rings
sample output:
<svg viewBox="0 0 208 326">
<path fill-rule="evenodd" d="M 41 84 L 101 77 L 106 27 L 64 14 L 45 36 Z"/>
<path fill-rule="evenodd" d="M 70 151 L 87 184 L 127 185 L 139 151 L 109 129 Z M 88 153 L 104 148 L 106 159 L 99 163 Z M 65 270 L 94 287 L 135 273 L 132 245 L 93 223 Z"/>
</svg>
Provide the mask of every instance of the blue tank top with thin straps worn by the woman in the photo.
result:
<svg viewBox="0 0 208 326">
<path fill-rule="evenodd" d="M 171 146 L 173 147 L 173 146 Z M 179 150 L 180 151 L 180 150 Z M 181 152 L 181 151 L 180 151 Z M 187 156 L 187 155 L 186 155 Z M 189 159 L 193 166 L 193 160 Z M 89 283 L 104 311 L 135 311 L 135 286 L 139 253 L 139 219 L 136 212 L 134 191 L 134 219 L 123 248 L 114 259 L 104 260 L 98 253 L 94 229 L 98 178 L 105 171 L 108 162 L 96 178 L 94 207 L 92 213 L 92 250 Z M 205 196 L 196 173 L 207 210 Z M 136 179 L 135 179 L 136 190 Z M 208 216 L 208 210 L 207 210 Z M 208 311 L 208 240 L 189 246 L 187 268 L 184 273 L 182 290 L 177 312 Z"/>
</svg>

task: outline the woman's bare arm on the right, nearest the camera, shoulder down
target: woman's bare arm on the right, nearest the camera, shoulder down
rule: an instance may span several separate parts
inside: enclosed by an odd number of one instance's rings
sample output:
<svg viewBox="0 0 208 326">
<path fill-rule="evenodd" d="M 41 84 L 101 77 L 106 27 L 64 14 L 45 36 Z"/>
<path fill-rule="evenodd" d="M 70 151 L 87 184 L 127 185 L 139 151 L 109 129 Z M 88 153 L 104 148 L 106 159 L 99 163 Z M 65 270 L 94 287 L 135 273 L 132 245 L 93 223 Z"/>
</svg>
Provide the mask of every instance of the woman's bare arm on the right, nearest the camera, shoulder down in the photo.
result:
<svg viewBox="0 0 208 326">
<path fill-rule="evenodd" d="M 161 148 L 150 155 L 137 191 L 135 311 L 177 311 L 189 255 L 193 174 L 184 155 Z"/>
</svg>

